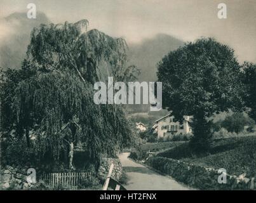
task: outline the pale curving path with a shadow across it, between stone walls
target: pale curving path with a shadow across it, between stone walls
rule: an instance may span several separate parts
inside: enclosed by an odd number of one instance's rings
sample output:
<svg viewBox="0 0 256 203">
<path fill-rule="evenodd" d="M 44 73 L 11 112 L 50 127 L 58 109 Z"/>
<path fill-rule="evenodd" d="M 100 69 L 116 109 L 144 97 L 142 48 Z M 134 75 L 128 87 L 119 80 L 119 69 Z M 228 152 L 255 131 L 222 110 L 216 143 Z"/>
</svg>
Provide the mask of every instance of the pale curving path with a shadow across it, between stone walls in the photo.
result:
<svg viewBox="0 0 256 203">
<path fill-rule="evenodd" d="M 119 159 L 128 175 L 127 190 L 191 190 L 191 188 L 163 176 L 151 169 L 128 159 L 130 153 L 119 154 Z"/>
</svg>

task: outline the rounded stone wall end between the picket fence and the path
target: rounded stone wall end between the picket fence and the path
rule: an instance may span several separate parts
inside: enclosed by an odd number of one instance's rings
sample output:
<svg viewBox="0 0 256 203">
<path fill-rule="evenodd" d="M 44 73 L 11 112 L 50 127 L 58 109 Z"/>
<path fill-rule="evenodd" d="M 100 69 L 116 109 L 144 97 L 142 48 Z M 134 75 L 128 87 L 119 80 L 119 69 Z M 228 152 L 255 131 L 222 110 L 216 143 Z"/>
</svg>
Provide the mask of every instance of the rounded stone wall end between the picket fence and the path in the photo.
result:
<svg viewBox="0 0 256 203">
<path fill-rule="evenodd" d="M 98 176 L 100 179 L 105 180 L 107 178 L 107 174 L 109 173 L 109 168 L 111 163 L 114 164 L 114 169 L 112 171 L 111 177 L 115 180 L 119 180 L 121 174 L 123 173 L 123 167 L 119 159 L 113 158 L 103 158 L 100 161 L 100 166 L 98 167 Z"/>
</svg>

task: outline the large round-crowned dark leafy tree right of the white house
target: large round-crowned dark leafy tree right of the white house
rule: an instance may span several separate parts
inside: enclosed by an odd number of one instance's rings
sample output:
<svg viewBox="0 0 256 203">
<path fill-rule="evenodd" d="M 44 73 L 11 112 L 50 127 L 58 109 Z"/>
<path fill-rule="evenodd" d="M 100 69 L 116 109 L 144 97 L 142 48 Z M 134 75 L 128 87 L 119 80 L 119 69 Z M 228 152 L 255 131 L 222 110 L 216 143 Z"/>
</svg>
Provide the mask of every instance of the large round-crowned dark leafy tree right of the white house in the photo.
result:
<svg viewBox="0 0 256 203">
<path fill-rule="evenodd" d="M 208 148 L 212 136 L 210 117 L 243 107 L 234 50 L 215 39 L 198 39 L 168 53 L 158 63 L 158 81 L 163 82 L 163 107 L 180 122 L 192 115 L 191 144 L 199 151 Z"/>
</svg>

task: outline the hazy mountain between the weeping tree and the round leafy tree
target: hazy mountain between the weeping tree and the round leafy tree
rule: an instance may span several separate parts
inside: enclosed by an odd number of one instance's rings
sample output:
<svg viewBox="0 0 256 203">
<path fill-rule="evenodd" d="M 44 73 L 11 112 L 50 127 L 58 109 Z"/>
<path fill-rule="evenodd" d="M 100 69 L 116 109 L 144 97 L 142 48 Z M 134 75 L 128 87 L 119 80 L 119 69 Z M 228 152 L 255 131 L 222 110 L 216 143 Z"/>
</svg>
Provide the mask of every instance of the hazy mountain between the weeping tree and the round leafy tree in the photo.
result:
<svg viewBox="0 0 256 203">
<path fill-rule="evenodd" d="M 131 44 L 128 56 L 130 63 L 137 65 L 141 74 L 139 81 L 156 81 L 156 65 L 170 51 L 184 45 L 183 41 L 167 34 L 158 34 L 140 44 Z"/>
</svg>

